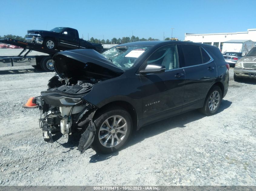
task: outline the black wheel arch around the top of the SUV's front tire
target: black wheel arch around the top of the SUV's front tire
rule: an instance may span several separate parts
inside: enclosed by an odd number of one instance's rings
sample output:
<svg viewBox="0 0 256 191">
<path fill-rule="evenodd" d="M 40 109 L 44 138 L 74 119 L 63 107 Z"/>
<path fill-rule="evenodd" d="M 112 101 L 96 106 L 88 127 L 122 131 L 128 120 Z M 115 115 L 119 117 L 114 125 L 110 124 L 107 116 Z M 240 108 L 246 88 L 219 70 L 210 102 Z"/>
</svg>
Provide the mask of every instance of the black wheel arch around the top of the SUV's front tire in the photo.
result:
<svg viewBox="0 0 256 191">
<path fill-rule="evenodd" d="M 137 128 L 137 125 L 138 125 L 137 111 L 131 105 L 131 103 L 128 103 L 126 101 L 119 100 L 119 101 L 112 101 L 110 103 L 107 103 L 106 105 L 104 105 L 104 106 L 100 107 L 98 110 L 96 110 L 94 117 L 98 116 L 98 114 L 104 112 L 105 110 L 108 110 L 113 107 L 122 107 L 123 109 L 127 110 L 128 113 L 131 115 L 133 130 Z"/>
</svg>

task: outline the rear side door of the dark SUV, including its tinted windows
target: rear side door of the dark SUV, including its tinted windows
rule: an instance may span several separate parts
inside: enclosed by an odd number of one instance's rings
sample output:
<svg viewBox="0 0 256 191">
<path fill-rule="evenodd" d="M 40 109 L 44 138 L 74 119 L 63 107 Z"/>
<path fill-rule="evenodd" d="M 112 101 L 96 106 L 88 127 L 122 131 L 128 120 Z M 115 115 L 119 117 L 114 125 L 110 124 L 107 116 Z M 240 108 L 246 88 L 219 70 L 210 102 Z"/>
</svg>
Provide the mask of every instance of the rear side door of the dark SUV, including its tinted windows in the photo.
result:
<svg viewBox="0 0 256 191">
<path fill-rule="evenodd" d="M 185 110 L 201 107 L 209 88 L 217 78 L 217 67 L 204 48 L 195 45 L 178 45 L 180 65 L 186 80 L 184 92 Z"/>
</svg>

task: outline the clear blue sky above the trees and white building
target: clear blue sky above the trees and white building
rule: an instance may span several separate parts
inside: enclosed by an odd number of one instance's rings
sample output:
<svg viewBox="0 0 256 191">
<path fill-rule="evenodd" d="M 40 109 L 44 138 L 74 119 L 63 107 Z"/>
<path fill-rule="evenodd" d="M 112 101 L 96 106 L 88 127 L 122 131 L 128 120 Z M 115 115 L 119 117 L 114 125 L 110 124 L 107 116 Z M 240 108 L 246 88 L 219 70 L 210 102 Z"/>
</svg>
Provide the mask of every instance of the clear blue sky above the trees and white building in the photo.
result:
<svg viewBox="0 0 256 191">
<path fill-rule="evenodd" d="M 256 1 L 237 0 L 3 0 L 0 35 L 24 37 L 28 29 L 78 29 L 94 37 L 173 37 L 185 33 L 241 32 L 256 28 Z"/>
</svg>

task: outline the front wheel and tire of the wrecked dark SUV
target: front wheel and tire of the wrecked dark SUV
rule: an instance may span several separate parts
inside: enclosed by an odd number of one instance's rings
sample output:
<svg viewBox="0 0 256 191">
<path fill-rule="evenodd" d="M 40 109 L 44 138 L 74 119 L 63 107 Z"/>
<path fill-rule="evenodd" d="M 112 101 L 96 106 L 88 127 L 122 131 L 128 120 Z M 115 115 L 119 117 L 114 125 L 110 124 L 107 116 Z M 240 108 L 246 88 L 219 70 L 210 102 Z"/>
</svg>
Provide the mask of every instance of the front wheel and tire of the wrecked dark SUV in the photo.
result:
<svg viewBox="0 0 256 191">
<path fill-rule="evenodd" d="M 105 110 L 95 119 L 96 133 L 91 148 L 108 154 L 118 151 L 132 131 L 131 115 L 121 107 Z"/>
</svg>

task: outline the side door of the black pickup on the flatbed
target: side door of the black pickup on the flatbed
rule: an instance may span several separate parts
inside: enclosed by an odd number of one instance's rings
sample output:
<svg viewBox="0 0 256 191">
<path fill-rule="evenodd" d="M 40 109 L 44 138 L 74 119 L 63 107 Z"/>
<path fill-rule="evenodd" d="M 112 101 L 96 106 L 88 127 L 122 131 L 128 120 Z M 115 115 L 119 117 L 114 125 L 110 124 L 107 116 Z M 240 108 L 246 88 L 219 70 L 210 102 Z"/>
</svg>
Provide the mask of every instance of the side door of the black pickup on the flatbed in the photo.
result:
<svg viewBox="0 0 256 191">
<path fill-rule="evenodd" d="M 60 34 L 60 44 L 67 49 L 78 49 L 79 37 L 76 30 L 71 28 L 66 28 Z"/>
</svg>

